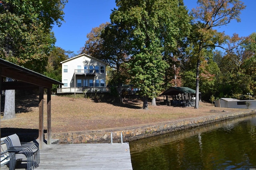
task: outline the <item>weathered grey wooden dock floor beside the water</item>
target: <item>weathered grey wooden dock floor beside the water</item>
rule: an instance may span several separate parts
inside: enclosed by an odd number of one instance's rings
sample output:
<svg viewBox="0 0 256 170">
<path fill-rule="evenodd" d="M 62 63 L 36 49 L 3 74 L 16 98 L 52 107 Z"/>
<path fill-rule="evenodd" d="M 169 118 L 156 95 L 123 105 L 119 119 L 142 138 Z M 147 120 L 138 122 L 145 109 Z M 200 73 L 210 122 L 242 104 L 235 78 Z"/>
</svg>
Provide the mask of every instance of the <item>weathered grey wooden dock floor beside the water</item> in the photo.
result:
<svg viewBox="0 0 256 170">
<path fill-rule="evenodd" d="M 5 165 L 1 170 L 8 170 Z M 17 168 L 24 169 L 24 166 Z M 132 170 L 128 143 L 52 144 L 40 150 L 35 170 Z"/>
</svg>

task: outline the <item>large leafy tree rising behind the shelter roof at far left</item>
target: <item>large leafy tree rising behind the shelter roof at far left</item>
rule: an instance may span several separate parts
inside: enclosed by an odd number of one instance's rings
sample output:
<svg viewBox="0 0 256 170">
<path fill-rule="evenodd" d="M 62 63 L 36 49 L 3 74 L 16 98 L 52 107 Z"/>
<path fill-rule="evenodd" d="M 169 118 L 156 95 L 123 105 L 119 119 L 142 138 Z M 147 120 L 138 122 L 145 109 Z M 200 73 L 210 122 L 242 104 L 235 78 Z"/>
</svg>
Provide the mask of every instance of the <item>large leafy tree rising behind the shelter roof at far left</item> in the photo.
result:
<svg viewBox="0 0 256 170">
<path fill-rule="evenodd" d="M 43 73 L 55 43 L 52 25 L 61 25 L 66 0 L 0 1 L 0 57 Z M 8 80 L 8 78 L 7 78 Z M 5 101 L 15 96 L 6 93 Z M 15 116 L 15 107 L 6 105 L 4 115 Z M 7 118 L 4 116 L 4 118 Z M 8 116 L 9 118 L 9 116 Z"/>
</svg>

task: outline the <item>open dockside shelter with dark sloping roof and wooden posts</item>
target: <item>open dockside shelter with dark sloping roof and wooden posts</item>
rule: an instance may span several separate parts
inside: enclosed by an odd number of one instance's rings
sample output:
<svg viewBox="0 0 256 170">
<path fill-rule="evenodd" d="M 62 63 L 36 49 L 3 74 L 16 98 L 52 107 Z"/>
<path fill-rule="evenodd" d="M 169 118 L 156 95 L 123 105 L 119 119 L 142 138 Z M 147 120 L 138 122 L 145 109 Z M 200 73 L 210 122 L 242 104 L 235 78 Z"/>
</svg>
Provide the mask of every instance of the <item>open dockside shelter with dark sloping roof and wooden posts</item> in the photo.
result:
<svg viewBox="0 0 256 170">
<path fill-rule="evenodd" d="M 5 82 L 4 77 L 12 78 L 16 81 Z M 43 149 L 44 143 L 44 89 L 47 89 L 47 144 L 51 143 L 51 94 L 52 84 L 63 85 L 62 82 L 34 72 L 14 63 L 10 63 L 4 59 L 0 59 L 0 103 L 2 90 L 18 90 L 18 89 L 38 89 L 39 90 L 39 148 Z"/>
</svg>

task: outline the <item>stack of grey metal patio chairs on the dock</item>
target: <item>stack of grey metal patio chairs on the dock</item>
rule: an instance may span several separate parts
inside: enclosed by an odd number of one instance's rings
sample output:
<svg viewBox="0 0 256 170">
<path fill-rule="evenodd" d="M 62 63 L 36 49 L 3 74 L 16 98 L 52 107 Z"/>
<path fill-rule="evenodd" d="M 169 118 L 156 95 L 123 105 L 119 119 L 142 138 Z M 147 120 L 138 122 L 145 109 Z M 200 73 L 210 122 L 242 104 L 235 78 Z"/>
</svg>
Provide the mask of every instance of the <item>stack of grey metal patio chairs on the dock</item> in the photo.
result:
<svg viewBox="0 0 256 170">
<path fill-rule="evenodd" d="M 32 170 L 39 166 L 39 148 L 36 143 L 21 143 L 18 135 L 10 135 L 4 139 L 10 157 L 9 169 L 14 170 L 17 162 L 27 162 L 27 170 Z M 22 160 L 26 158 L 26 160 Z"/>
</svg>

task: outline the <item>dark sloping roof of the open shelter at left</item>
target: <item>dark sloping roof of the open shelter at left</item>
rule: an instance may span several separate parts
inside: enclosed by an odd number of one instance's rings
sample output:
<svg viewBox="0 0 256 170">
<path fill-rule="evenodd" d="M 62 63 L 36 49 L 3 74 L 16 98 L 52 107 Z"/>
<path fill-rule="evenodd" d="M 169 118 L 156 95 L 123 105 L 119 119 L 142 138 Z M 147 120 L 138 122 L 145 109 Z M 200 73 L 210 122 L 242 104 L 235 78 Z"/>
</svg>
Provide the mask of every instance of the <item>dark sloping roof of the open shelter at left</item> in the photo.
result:
<svg viewBox="0 0 256 170">
<path fill-rule="evenodd" d="M 22 66 L 19 66 L 14 63 L 10 63 L 4 59 L 0 58 L 0 76 L 13 78 L 18 81 L 14 82 L 4 82 L 2 81 L 2 90 L 11 90 L 11 89 L 34 89 L 40 87 L 52 88 L 52 84 L 60 84 L 57 80 L 34 72 Z"/>
</svg>

